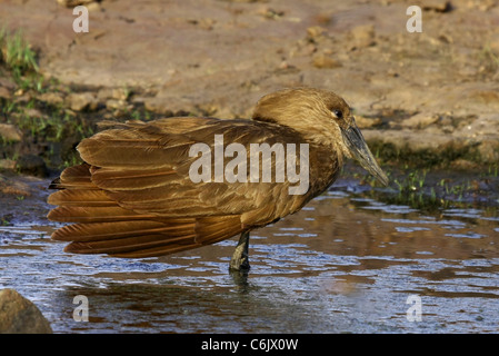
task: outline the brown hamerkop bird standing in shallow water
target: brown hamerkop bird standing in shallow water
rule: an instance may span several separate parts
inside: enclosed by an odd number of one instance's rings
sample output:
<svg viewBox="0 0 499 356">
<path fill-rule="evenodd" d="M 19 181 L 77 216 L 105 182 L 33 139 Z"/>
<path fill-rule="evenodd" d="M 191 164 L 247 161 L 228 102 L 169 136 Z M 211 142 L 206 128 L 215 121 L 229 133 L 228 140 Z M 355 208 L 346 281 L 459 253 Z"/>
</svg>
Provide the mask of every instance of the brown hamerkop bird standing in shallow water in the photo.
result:
<svg viewBox="0 0 499 356">
<path fill-rule="evenodd" d="M 76 222 L 52 235 L 54 240 L 70 241 L 64 248 L 68 253 L 153 257 L 240 234 L 230 268 L 248 269 L 250 230 L 300 210 L 322 194 L 338 177 L 346 158 L 357 159 L 381 184 L 388 182 L 350 107 L 331 91 L 296 88 L 267 95 L 257 103 L 251 120 L 174 117 L 104 126 L 106 130 L 78 146 L 84 162 L 67 168 L 51 185 L 59 190 L 50 195 L 49 202 L 59 207 L 49 212 L 49 219 Z M 223 149 L 233 142 L 240 145 L 223 156 Z M 203 167 L 200 151 L 190 151 L 196 144 L 204 144 L 214 156 L 222 149 L 221 160 L 208 156 L 204 162 L 209 167 Z M 272 148 L 276 144 L 283 148 L 295 145 L 296 155 L 286 156 L 290 165 L 286 167 L 292 168 L 287 172 L 307 169 L 306 189 L 290 194 L 290 188 L 298 186 L 296 179 L 288 179 L 291 176 L 278 181 L 278 158 L 283 156 L 277 149 L 261 161 L 263 168 L 269 157 L 276 157 L 267 166 L 276 170 L 276 178 L 257 181 L 250 177 L 244 157 L 253 157 L 250 148 L 255 144 Z M 298 155 L 298 148 L 308 155 Z M 232 162 L 232 170 L 241 171 L 229 179 L 228 161 L 236 152 L 248 156 L 238 159 L 238 165 Z M 220 178 L 223 170 L 216 167 L 217 161 L 227 164 L 226 177 Z M 204 179 L 199 178 L 200 169 Z"/>
</svg>

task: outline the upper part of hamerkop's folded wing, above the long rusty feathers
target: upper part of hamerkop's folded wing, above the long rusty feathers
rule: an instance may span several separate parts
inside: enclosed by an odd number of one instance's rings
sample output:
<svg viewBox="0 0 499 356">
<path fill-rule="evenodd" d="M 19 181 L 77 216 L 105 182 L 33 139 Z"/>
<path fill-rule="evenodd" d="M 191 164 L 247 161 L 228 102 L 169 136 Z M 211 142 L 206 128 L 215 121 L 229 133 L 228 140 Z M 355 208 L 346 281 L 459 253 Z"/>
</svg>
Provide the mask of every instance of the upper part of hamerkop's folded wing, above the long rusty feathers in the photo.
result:
<svg viewBox="0 0 499 356">
<path fill-rule="evenodd" d="M 239 142 L 247 148 L 249 144 L 271 146 L 279 140 L 286 145 L 287 137 L 276 129 L 248 120 L 203 118 L 170 118 L 131 128 L 106 130 L 78 147 L 82 159 L 93 167 L 92 182 L 123 208 L 162 217 L 242 215 L 243 221 L 268 222 L 277 217 L 272 218 L 273 214 L 289 214 L 301 204 L 299 196 L 289 195 L 287 180 L 193 182 L 189 176 L 198 159 L 189 156 L 192 145 L 208 145 L 213 165 L 214 135 L 223 135 L 224 145 Z M 275 164 L 271 159 L 272 171 Z"/>
</svg>

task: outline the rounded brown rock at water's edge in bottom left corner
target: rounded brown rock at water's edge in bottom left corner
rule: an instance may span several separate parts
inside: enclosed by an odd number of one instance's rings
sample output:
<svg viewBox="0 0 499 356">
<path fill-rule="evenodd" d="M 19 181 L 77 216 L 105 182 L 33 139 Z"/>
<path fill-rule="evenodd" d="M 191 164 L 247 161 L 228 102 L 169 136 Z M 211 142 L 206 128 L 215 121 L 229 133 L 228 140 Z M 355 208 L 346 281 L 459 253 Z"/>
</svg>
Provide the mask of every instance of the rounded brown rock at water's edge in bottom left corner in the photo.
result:
<svg viewBox="0 0 499 356">
<path fill-rule="evenodd" d="M 0 290 L 0 334 L 51 334 L 52 328 L 34 304 L 14 289 Z"/>
</svg>

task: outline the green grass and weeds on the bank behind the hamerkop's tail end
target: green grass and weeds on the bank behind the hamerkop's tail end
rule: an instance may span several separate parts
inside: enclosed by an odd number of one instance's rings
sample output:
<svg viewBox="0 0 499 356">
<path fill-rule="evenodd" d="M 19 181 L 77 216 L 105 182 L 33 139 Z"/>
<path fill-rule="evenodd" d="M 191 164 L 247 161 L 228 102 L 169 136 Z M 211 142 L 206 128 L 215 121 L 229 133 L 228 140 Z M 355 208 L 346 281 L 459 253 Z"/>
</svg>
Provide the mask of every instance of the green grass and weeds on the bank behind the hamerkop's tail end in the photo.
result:
<svg viewBox="0 0 499 356">
<path fill-rule="evenodd" d="M 37 52 L 24 40 L 22 31 L 11 33 L 0 29 L 0 77 L 16 87 L 11 97 L 0 97 L 0 123 L 11 123 L 23 132 L 22 142 L 0 136 L 0 160 L 17 161 L 20 155 L 30 152 L 41 156 L 56 170 L 80 162 L 76 146 L 96 132 L 97 122 L 109 119 L 110 110 L 103 107 L 78 113 L 71 110 L 62 98 L 88 88 L 66 87 L 43 78 Z M 59 96 L 60 100 L 47 100 L 43 93 Z M 127 98 L 130 93 L 124 88 Z M 112 112 L 113 118 L 120 116 L 137 120 L 154 117 L 143 106 Z"/>
</svg>

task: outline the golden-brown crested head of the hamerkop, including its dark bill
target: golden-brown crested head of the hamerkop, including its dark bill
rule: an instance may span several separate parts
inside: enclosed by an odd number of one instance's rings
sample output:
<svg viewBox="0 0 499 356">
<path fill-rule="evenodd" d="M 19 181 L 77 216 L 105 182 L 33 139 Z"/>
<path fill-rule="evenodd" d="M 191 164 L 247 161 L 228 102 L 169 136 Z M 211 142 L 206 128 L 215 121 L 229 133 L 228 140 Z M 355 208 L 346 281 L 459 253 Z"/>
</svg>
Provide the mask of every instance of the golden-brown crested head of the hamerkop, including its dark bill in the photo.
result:
<svg viewBox="0 0 499 356">
<path fill-rule="evenodd" d="M 330 146 L 339 158 L 353 158 L 388 185 L 356 125 L 348 103 L 332 91 L 295 88 L 265 96 L 257 103 L 253 120 L 287 126 L 301 134 L 307 141 Z"/>
</svg>

